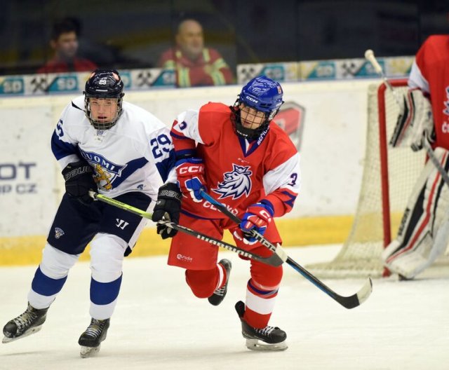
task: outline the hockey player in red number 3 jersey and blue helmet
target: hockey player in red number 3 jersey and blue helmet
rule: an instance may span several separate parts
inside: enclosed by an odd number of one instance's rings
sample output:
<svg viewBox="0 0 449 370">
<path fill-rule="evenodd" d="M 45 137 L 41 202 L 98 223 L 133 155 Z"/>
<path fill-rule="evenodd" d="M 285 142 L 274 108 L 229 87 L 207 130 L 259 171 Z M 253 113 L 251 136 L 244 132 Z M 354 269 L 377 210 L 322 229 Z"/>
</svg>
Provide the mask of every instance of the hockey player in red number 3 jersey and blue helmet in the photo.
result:
<svg viewBox="0 0 449 370">
<path fill-rule="evenodd" d="M 286 132 L 272 121 L 283 104 L 282 97 L 279 83 L 260 76 L 243 87 L 232 107 L 208 103 L 199 111 L 177 116 L 170 135 L 183 194 L 180 224 L 219 239 L 228 229 L 238 247 L 262 256 L 272 252 L 248 231 L 254 229 L 272 243 L 281 243 L 274 217 L 292 209 L 300 189 L 299 153 Z M 234 224 L 203 200 L 201 190 L 239 216 L 241 224 Z M 163 212 L 158 212 L 153 221 L 162 217 Z M 163 233 L 163 224 L 158 228 Z M 217 263 L 217 253 L 217 247 L 177 233 L 168 256 L 169 265 L 186 269 L 187 285 L 194 295 L 208 298 L 215 306 L 225 298 L 231 271 L 227 259 Z M 246 303 L 236 303 L 250 349 L 287 348 L 285 331 L 268 325 L 282 271 L 282 266 L 250 260 Z"/>
</svg>

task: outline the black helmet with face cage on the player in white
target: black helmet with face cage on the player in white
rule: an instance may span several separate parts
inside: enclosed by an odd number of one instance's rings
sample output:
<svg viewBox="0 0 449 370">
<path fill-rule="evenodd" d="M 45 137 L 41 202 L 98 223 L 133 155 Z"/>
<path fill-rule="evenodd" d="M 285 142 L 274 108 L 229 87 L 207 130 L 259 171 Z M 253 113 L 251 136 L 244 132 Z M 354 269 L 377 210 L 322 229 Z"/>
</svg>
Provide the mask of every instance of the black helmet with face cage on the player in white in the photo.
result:
<svg viewBox="0 0 449 370">
<path fill-rule="evenodd" d="M 123 95 L 123 81 L 119 72 L 115 69 L 96 69 L 86 81 L 84 90 L 84 108 L 86 117 L 97 130 L 108 130 L 116 124 L 121 115 Z M 117 109 L 115 116 L 110 121 L 97 121 L 91 114 L 91 98 L 116 99 Z"/>
</svg>

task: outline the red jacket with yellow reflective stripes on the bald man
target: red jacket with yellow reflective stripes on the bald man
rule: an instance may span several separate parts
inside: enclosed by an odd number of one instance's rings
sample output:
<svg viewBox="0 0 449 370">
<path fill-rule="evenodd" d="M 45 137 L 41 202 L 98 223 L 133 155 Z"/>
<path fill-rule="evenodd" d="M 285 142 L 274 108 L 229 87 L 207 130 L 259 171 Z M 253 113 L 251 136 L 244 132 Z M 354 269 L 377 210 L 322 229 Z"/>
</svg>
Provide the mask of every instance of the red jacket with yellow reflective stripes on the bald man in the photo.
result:
<svg viewBox="0 0 449 370">
<path fill-rule="evenodd" d="M 226 85 L 233 83 L 234 76 L 220 53 L 215 49 L 203 48 L 203 53 L 190 60 L 180 49 L 166 50 L 159 60 L 159 66 L 175 69 L 176 84 L 189 86 Z"/>
</svg>

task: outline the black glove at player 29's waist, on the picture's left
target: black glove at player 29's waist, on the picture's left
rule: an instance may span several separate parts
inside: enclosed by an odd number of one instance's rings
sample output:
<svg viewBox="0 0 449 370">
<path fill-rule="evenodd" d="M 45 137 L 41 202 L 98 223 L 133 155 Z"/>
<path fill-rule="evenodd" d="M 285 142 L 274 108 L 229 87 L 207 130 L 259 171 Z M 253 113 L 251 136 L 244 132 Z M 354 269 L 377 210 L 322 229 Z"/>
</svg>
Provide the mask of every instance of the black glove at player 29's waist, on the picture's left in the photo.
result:
<svg viewBox="0 0 449 370">
<path fill-rule="evenodd" d="M 64 170 L 62 176 L 65 179 L 65 191 L 69 196 L 76 198 L 84 205 L 93 202 L 93 198 L 89 196 L 89 190 L 97 191 L 97 184 L 93 179 L 92 167 L 85 161 L 69 163 Z"/>
</svg>

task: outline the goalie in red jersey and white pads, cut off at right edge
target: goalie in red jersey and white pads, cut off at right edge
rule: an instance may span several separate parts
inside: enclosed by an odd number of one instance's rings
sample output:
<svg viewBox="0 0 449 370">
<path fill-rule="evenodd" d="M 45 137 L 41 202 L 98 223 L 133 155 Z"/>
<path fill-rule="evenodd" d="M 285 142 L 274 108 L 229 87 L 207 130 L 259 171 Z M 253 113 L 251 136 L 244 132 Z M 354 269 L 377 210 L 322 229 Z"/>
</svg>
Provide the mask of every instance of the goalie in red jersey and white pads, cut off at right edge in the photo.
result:
<svg viewBox="0 0 449 370">
<path fill-rule="evenodd" d="M 401 97 L 392 146 L 421 150 L 431 144 L 441 167 L 449 170 L 449 35 L 422 44 Z M 384 266 L 413 279 L 446 249 L 449 240 L 449 186 L 427 160 L 408 200 L 396 240 L 382 253 Z"/>
</svg>

